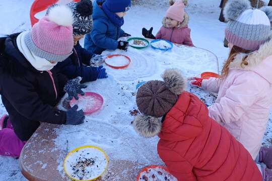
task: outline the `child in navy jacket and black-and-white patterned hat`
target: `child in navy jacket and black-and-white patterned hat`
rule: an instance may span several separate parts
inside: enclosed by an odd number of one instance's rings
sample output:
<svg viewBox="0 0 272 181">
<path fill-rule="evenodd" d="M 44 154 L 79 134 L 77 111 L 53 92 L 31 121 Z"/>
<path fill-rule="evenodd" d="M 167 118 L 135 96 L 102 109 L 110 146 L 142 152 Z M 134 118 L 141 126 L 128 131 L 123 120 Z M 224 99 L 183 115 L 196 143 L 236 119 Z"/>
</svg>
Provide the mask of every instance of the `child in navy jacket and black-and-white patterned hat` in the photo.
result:
<svg viewBox="0 0 272 181">
<path fill-rule="evenodd" d="M 58 5 L 53 5 L 52 7 L 54 6 Z M 92 2 L 90 0 L 82 0 L 79 3 L 71 2 L 67 6 L 71 8 L 74 16 L 73 54 L 66 58 L 64 61 L 58 62 L 55 68 L 60 73 L 66 75 L 66 77 L 69 79 L 73 79 L 78 76 L 82 77 L 81 82 L 94 81 L 97 78 L 107 78 L 108 76 L 103 66 L 89 66 L 93 54 L 89 53 L 79 44 L 79 40 L 92 30 Z"/>
</svg>

